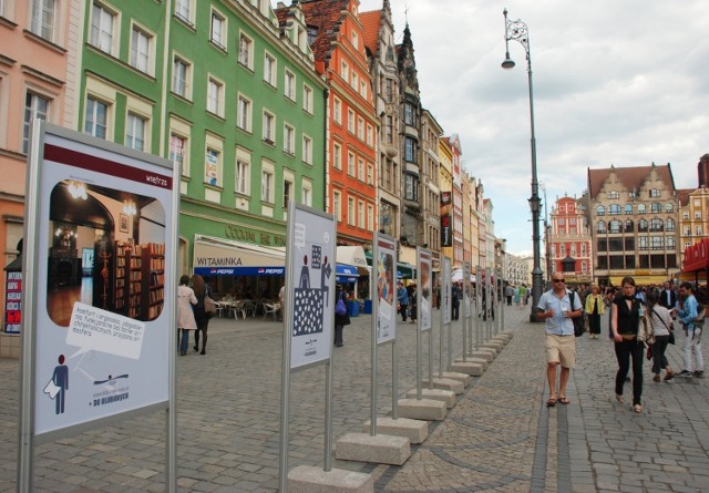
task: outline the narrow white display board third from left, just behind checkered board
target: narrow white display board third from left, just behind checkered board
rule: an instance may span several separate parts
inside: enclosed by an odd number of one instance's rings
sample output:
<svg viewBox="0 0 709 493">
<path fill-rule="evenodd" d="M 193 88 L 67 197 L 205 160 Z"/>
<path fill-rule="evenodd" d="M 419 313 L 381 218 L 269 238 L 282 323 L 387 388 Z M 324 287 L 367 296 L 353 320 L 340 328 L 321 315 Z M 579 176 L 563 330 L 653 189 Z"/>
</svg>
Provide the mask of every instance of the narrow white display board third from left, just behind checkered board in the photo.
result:
<svg viewBox="0 0 709 493">
<path fill-rule="evenodd" d="M 373 265 L 377 273 L 377 343 L 397 337 L 397 244 L 393 238 L 374 234 Z"/>
</svg>

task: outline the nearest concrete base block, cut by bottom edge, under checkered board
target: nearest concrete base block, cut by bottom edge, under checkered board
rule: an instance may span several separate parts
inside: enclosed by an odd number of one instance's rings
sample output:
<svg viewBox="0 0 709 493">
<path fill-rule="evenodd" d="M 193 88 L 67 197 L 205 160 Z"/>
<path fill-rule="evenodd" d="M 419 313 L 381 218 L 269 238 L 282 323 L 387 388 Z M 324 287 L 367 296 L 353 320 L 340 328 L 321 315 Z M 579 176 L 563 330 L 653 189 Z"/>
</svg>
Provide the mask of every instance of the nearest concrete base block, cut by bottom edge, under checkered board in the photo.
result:
<svg viewBox="0 0 709 493">
<path fill-rule="evenodd" d="M 299 465 L 288 473 L 290 493 L 374 493 L 374 480 L 369 474 Z"/>
</svg>

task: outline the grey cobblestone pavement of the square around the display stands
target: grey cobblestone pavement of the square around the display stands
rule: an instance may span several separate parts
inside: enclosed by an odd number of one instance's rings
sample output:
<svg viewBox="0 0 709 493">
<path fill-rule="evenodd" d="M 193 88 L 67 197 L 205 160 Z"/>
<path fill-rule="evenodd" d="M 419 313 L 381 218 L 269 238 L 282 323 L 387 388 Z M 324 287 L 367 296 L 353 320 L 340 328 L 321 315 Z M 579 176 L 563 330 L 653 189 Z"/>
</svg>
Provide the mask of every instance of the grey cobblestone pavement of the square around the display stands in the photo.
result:
<svg viewBox="0 0 709 493">
<path fill-rule="evenodd" d="M 585 336 L 577 340 L 572 403 L 547 409 L 544 329 L 527 318 L 526 309 L 505 311 L 515 337 L 448 418 L 431 424 L 429 439 L 412 446 L 403 466 L 333 460 L 333 468 L 371 473 L 377 492 L 709 491 L 707 380 L 655 383 L 646 364 L 645 410 L 636 414 L 614 399 L 612 342 Z M 335 350 L 335 440 L 360 431 L 369 419 L 370 320 L 353 318 L 345 347 Z M 415 387 L 413 327 L 399 326 L 402 396 Z M 460 326 L 453 331 L 454 348 L 461 348 Z M 433 333 L 438 369 L 436 328 Z M 379 357 L 380 415 L 391 407 L 387 348 Z M 281 351 L 279 323 L 217 319 L 207 355 L 177 359 L 181 492 L 277 491 Z M 425 378 L 427 345 L 423 353 Z M 681 369 L 679 346 L 668 357 Z M 0 360 L 0 492 L 9 492 L 16 487 L 19 363 Z M 289 468 L 322 465 L 323 380 L 322 368 L 291 377 Z M 34 490 L 164 491 L 164 413 L 157 412 L 39 445 Z"/>
</svg>

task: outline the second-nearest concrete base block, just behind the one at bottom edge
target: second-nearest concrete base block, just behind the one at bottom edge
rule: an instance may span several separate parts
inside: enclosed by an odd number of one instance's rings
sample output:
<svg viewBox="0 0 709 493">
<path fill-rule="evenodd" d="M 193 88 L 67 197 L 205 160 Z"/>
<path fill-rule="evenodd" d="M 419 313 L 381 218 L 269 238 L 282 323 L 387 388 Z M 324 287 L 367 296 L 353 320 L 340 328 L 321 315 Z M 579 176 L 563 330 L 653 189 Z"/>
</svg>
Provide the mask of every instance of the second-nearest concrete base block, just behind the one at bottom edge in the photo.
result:
<svg viewBox="0 0 709 493">
<path fill-rule="evenodd" d="M 335 448 L 335 458 L 342 461 L 401 465 L 410 456 L 409 439 L 386 434 L 347 433 Z"/>
</svg>

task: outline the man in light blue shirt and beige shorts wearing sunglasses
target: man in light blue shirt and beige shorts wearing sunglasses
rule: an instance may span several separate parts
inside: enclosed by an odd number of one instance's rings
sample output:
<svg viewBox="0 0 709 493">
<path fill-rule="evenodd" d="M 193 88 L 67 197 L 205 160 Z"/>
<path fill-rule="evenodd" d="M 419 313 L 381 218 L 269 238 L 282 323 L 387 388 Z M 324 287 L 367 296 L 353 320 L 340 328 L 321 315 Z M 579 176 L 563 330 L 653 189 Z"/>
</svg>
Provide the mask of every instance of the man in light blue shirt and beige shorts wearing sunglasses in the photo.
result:
<svg viewBox="0 0 709 493">
<path fill-rule="evenodd" d="M 574 337 L 574 322 L 572 318 L 582 316 L 582 305 L 578 295 L 574 295 L 574 305 L 566 289 L 564 275 L 555 273 L 552 276 L 552 289 L 540 298 L 537 308 L 538 319 L 546 320 L 546 378 L 549 384 L 549 399 L 547 408 L 556 405 L 556 401 L 568 404 L 566 398 L 566 383 L 571 376 L 571 369 L 576 363 L 576 338 Z M 556 367 L 562 366 L 556 392 Z"/>
</svg>

